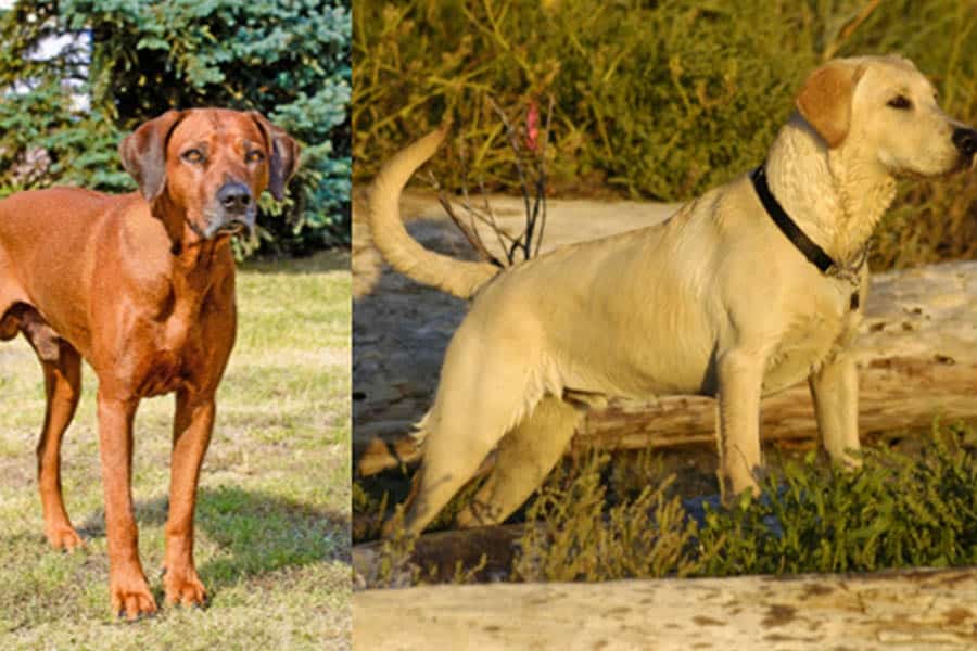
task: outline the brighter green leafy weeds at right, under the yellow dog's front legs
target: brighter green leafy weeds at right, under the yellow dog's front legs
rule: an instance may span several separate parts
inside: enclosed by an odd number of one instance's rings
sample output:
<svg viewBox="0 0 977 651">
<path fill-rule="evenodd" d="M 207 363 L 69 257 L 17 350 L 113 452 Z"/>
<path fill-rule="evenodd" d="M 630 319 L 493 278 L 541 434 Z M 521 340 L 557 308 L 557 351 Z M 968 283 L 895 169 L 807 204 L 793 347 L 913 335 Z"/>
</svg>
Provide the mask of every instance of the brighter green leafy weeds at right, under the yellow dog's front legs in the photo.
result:
<svg viewBox="0 0 977 651">
<path fill-rule="evenodd" d="M 977 459 L 937 432 L 918 455 L 865 451 L 859 472 L 788 462 L 744 496 L 709 510 L 703 575 L 873 572 L 977 563 Z M 948 441 L 950 443 L 948 443 Z"/>
</svg>

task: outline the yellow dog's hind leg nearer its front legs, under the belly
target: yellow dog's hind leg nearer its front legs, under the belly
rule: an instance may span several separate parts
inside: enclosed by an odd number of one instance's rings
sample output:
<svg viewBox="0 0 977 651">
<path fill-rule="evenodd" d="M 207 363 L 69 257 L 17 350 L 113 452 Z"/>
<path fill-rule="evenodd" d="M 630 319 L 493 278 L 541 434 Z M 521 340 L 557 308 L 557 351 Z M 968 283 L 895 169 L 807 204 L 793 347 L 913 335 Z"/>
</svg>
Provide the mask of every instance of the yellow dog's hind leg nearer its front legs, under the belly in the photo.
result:
<svg viewBox="0 0 977 651">
<path fill-rule="evenodd" d="M 563 455 L 583 414 L 560 398 L 543 398 L 498 444 L 495 468 L 458 514 L 458 525 L 499 524 L 522 506 Z"/>
</svg>

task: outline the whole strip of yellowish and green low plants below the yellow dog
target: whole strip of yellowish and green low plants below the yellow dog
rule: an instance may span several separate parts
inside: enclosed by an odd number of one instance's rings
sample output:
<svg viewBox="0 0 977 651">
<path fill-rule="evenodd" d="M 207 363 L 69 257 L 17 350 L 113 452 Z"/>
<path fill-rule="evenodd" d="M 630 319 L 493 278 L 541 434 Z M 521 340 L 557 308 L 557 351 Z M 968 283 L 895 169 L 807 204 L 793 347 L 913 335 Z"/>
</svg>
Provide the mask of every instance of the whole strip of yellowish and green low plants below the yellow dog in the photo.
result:
<svg viewBox="0 0 977 651">
<path fill-rule="evenodd" d="M 810 454 L 764 480 L 761 498 L 702 502 L 687 515 L 670 480 L 649 476 L 609 498 L 613 461 L 556 471 L 526 511 L 513 578 L 612 580 L 874 572 L 977 563 L 977 458 L 949 429 L 913 456 L 866 449 L 857 472 Z M 687 496 L 686 496 L 687 497 Z M 688 505 L 690 502 L 686 502 Z M 691 509 L 690 509 L 691 510 Z"/>
</svg>

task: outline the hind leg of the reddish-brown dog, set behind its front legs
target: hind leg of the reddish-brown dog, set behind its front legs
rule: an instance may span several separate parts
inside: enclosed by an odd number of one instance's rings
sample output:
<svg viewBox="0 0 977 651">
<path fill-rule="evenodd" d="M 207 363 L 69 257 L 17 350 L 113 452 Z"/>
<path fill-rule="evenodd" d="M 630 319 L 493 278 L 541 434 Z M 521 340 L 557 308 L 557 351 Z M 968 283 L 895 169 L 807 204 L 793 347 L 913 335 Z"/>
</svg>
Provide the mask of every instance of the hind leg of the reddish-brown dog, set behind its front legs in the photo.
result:
<svg viewBox="0 0 977 651">
<path fill-rule="evenodd" d="M 33 308 L 23 306 L 16 318 L 45 372 L 47 407 L 37 443 L 37 483 L 45 514 L 45 536 L 51 547 L 72 551 L 81 545 L 81 537 L 72 526 L 64 508 L 61 442 L 81 395 L 81 357 Z"/>
</svg>

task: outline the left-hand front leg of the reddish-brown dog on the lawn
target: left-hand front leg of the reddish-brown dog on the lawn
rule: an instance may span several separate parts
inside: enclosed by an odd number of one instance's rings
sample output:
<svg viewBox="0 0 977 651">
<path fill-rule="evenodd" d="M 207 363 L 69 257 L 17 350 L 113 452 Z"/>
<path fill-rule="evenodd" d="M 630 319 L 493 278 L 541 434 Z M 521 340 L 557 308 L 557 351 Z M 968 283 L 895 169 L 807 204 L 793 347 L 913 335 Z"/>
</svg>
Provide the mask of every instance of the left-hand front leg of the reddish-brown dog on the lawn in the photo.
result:
<svg viewBox="0 0 977 651">
<path fill-rule="evenodd" d="M 112 609 L 135 620 L 156 611 L 139 562 L 138 532 L 132 512 L 132 419 L 138 400 L 109 398 L 99 392 L 99 444 L 105 489 L 109 537 L 109 590 Z"/>
</svg>

